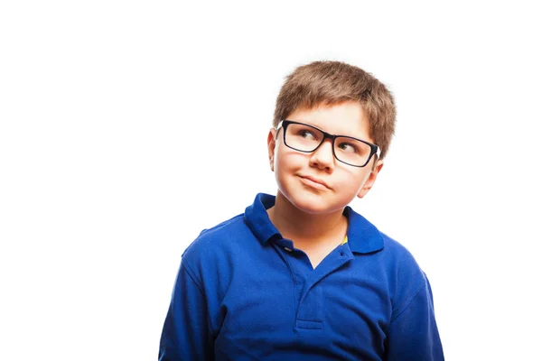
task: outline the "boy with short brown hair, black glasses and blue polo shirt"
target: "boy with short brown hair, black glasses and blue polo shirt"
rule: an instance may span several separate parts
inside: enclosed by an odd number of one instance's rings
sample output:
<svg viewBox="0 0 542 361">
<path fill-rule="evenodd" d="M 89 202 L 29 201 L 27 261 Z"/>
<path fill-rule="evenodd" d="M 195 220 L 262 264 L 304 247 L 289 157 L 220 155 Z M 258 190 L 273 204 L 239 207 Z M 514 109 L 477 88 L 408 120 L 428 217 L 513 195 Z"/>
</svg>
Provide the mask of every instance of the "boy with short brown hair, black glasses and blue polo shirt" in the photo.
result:
<svg viewBox="0 0 542 361">
<path fill-rule="evenodd" d="M 204 230 L 182 255 L 160 360 L 443 360 L 429 282 L 348 204 L 395 129 L 377 79 L 316 61 L 286 78 L 267 136 L 276 197 Z"/>
</svg>

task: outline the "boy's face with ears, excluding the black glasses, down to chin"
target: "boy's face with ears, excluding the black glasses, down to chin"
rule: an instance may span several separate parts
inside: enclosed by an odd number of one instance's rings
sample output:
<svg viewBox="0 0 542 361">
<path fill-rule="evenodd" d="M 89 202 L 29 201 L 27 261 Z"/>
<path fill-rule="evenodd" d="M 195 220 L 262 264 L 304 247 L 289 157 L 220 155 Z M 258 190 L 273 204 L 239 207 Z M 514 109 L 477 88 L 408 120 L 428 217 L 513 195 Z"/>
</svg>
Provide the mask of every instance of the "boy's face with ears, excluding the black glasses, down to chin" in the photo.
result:
<svg viewBox="0 0 542 361">
<path fill-rule="evenodd" d="M 360 104 L 345 102 L 335 106 L 294 110 L 287 120 L 316 126 L 335 135 L 348 135 L 369 143 L 369 121 Z M 296 208 L 307 213 L 329 213 L 346 207 L 356 196 L 367 194 L 382 168 L 375 157 L 365 167 L 339 162 L 332 152 L 332 140 L 326 139 L 313 153 L 287 147 L 284 128 L 271 129 L 267 147 L 271 170 L 275 171 L 278 190 Z M 316 180 L 316 184 L 312 178 Z"/>
</svg>

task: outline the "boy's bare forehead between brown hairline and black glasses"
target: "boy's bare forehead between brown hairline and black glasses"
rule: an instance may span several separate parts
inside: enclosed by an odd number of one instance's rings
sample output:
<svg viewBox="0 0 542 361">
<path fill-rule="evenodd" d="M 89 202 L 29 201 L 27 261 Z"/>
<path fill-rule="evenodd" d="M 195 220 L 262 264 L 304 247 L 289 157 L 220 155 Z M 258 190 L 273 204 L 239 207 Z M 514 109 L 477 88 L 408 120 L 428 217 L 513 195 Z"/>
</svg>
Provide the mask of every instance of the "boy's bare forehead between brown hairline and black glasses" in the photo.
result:
<svg viewBox="0 0 542 361">
<path fill-rule="evenodd" d="M 333 106 L 301 107 L 295 109 L 286 119 L 314 125 L 331 134 L 372 140 L 369 133 L 369 118 L 360 103 L 345 102 Z"/>
</svg>

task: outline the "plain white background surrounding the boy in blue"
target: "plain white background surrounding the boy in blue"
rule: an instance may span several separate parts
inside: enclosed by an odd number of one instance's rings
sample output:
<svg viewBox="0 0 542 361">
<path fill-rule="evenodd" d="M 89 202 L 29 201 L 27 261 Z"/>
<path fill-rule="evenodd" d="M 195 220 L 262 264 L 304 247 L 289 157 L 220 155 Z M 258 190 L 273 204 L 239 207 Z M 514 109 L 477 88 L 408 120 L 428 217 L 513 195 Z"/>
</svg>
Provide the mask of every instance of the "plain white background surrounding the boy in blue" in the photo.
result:
<svg viewBox="0 0 542 361">
<path fill-rule="evenodd" d="M 312 60 L 396 97 L 351 206 L 427 273 L 446 358 L 542 359 L 540 12 L 375 3 L 3 2 L 0 359 L 156 359 L 182 250 L 275 193 L 276 95 Z"/>
</svg>

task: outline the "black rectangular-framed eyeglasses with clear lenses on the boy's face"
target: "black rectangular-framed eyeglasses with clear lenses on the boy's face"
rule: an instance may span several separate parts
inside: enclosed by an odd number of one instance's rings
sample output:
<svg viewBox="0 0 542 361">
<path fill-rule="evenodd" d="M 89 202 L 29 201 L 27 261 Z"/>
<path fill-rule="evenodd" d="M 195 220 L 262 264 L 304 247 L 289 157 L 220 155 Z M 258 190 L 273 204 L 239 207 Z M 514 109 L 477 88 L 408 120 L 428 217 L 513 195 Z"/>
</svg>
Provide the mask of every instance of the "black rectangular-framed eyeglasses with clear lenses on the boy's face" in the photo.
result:
<svg viewBox="0 0 542 361">
<path fill-rule="evenodd" d="M 353 167 L 365 167 L 374 154 L 380 157 L 378 145 L 347 135 L 333 135 L 313 125 L 282 120 L 276 130 L 283 128 L 285 145 L 295 151 L 313 153 L 327 138 L 332 140 L 333 155 L 339 162 Z"/>
</svg>

